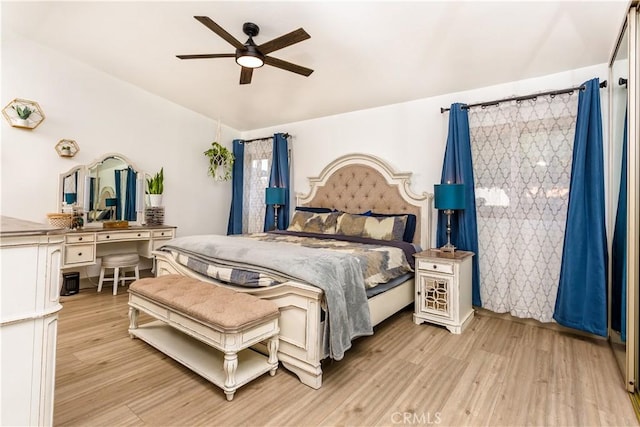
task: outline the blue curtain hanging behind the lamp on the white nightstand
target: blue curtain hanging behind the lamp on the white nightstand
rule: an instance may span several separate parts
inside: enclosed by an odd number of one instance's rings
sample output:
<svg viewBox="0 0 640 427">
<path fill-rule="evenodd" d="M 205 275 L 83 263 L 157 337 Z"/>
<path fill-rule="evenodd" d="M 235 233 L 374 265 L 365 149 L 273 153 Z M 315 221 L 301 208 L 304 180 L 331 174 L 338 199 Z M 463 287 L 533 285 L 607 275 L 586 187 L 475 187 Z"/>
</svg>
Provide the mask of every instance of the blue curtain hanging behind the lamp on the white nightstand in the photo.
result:
<svg viewBox="0 0 640 427">
<path fill-rule="evenodd" d="M 451 215 L 451 243 L 458 249 L 471 251 L 473 257 L 472 303 L 482 306 L 480 299 L 480 267 L 478 264 L 478 222 L 476 220 L 476 196 L 471 159 L 471 137 L 469 135 L 469 114 L 463 104 L 451 105 L 449 111 L 449 135 L 444 153 L 440 182 L 465 184 L 465 209 Z M 437 246 L 447 242 L 447 217 L 438 211 Z"/>
</svg>

